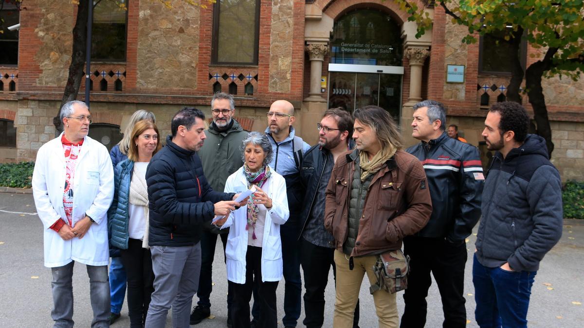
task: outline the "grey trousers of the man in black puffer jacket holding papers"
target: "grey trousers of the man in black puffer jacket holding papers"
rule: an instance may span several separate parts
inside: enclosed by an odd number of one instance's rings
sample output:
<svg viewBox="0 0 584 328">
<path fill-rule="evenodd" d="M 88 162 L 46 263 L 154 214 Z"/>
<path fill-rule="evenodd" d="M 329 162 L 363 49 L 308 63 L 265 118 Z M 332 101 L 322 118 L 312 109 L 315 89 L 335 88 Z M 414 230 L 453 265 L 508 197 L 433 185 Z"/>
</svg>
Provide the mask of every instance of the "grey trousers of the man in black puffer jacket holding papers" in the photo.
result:
<svg viewBox="0 0 584 328">
<path fill-rule="evenodd" d="M 201 244 L 193 246 L 152 246 L 154 292 L 145 328 L 162 328 L 172 306 L 172 326 L 188 328 L 190 306 L 199 286 Z"/>
</svg>

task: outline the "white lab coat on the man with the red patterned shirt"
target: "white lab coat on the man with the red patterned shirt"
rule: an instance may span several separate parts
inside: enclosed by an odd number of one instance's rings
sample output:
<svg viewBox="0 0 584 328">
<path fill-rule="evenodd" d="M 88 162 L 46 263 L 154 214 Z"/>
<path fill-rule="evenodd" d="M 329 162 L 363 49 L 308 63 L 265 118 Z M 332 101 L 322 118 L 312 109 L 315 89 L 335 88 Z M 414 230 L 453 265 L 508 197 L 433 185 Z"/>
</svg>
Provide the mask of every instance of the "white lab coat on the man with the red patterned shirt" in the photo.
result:
<svg viewBox="0 0 584 328">
<path fill-rule="evenodd" d="M 44 227 L 44 266 L 60 267 L 71 261 L 107 266 L 107 209 L 113 198 L 113 166 L 107 148 L 98 141 L 85 137 L 79 150 L 71 215 L 73 226 L 85 218 L 85 214 L 95 223 L 82 239 L 63 240 L 50 229 L 60 218 L 67 222 L 63 207 L 67 158 L 61 135 L 41 146 L 34 164 L 32 187 L 34 204 Z"/>
</svg>

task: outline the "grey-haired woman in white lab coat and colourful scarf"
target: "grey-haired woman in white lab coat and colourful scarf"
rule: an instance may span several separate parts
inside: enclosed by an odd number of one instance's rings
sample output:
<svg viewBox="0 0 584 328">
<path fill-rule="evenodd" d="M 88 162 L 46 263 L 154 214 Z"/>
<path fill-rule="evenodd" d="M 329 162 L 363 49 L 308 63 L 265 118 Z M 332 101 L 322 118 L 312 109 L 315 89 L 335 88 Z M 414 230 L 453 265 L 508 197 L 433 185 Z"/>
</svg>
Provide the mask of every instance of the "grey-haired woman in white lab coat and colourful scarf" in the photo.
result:
<svg viewBox="0 0 584 328">
<path fill-rule="evenodd" d="M 216 223 L 222 228 L 231 227 L 225 249 L 227 279 L 234 293 L 231 322 L 234 328 L 249 327 L 249 301 L 255 280 L 259 297 L 254 301 L 260 303 L 262 313 L 259 327 L 277 327 L 276 288 L 283 277 L 280 225 L 289 215 L 286 181 L 267 165 L 272 146 L 265 134 L 248 134 L 242 153 L 244 166 L 227 178 L 225 192 L 241 193 L 252 186 L 257 191 L 247 205 Z"/>
</svg>

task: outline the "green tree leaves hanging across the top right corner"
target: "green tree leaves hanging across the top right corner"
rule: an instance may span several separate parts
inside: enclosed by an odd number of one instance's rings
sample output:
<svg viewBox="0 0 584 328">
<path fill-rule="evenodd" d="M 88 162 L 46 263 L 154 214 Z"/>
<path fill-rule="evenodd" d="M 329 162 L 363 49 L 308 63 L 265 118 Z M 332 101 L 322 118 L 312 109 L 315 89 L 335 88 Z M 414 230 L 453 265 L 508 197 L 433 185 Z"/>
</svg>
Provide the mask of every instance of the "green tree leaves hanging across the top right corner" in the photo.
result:
<svg viewBox="0 0 584 328">
<path fill-rule="evenodd" d="M 426 8 L 419 6 L 422 2 L 394 1 L 411 15 L 408 20 L 418 23 L 416 37 L 432 26 Z M 562 74 L 576 80 L 584 73 L 583 0 L 442 0 L 433 3 L 436 8 L 442 7 L 453 23 L 468 28 L 468 35 L 463 39 L 467 44 L 475 43 L 479 35 L 503 32 L 505 41 L 519 37 L 536 49 L 558 49 L 548 58 L 551 65 L 546 76 Z"/>
</svg>

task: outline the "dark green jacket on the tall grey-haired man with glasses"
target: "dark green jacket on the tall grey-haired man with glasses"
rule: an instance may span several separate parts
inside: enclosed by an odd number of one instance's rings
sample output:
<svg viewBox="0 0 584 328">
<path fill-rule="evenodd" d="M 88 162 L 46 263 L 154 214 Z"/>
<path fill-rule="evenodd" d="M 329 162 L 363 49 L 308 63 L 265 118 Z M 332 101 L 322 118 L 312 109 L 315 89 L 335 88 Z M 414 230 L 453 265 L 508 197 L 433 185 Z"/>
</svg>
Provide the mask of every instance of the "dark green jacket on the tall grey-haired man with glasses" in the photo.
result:
<svg viewBox="0 0 584 328">
<path fill-rule="evenodd" d="M 227 178 L 244 166 L 240 148 L 248 131 L 241 128 L 237 120 L 232 121 L 231 128 L 221 132 L 216 130 L 214 123 L 211 123 L 205 130 L 207 139 L 199 151 L 203 174 L 215 191 L 223 191 Z M 224 230 L 228 232 L 228 229 Z"/>
</svg>

